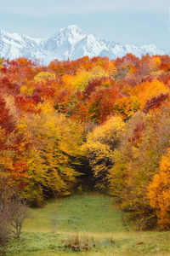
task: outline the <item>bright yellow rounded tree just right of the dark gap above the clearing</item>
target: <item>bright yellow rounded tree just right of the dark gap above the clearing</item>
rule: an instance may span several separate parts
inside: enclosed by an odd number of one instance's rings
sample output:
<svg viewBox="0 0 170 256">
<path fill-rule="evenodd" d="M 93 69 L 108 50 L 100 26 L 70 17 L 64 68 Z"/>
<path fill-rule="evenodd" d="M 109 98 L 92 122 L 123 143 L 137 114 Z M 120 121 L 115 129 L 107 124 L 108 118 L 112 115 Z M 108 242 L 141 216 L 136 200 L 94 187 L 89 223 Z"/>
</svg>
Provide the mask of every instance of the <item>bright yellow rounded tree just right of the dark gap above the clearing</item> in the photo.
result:
<svg viewBox="0 0 170 256">
<path fill-rule="evenodd" d="M 114 165 L 114 149 L 119 143 L 123 130 L 122 119 L 116 116 L 111 117 L 103 125 L 97 126 L 94 131 L 90 132 L 87 142 L 82 146 L 99 189 L 107 188 L 108 175 Z"/>
</svg>

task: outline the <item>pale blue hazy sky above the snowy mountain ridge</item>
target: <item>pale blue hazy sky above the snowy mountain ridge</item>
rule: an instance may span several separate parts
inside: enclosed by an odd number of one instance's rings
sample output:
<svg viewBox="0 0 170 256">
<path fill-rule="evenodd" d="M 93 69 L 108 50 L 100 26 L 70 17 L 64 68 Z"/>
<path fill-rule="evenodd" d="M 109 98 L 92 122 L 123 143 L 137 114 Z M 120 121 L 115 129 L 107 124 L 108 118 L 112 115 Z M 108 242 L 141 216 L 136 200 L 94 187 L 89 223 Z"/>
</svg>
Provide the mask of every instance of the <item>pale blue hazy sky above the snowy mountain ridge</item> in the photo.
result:
<svg viewBox="0 0 170 256">
<path fill-rule="evenodd" d="M 5 0 L 0 29 L 47 38 L 75 24 L 122 44 L 156 44 L 170 50 L 170 0 Z"/>
</svg>

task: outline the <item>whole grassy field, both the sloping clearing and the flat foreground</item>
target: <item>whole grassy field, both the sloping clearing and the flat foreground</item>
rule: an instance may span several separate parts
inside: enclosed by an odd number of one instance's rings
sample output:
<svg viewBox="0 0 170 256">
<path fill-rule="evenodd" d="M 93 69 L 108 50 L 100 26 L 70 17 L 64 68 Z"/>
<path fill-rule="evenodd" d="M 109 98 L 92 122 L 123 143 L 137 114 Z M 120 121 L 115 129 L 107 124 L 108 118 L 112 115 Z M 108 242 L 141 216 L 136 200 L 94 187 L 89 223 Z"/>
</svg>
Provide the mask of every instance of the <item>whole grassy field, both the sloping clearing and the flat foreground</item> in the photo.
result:
<svg viewBox="0 0 170 256">
<path fill-rule="evenodd" d="M 65 241 L 77 234 L 93 238 L 95 247 L 87 252 L 65 248 Z M 31 209 L 20 241 L 9 241 L 6 255 L 170 255 L 170 232 L 143 232 L 142 239 L 139 245 L 138 232 L 124 222 L 111 197 L 72 195 Z"/>
</svg>

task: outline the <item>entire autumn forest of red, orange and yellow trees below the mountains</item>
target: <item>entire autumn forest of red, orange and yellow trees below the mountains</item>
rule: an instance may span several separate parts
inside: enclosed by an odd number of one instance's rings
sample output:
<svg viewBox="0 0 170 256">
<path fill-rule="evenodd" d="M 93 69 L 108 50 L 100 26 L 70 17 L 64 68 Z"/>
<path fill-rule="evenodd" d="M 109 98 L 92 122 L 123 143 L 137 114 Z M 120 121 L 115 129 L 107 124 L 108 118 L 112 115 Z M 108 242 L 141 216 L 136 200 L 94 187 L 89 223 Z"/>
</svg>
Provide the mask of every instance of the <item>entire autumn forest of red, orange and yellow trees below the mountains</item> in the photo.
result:
<svg viewBox="0 0 170 256">
<path fill-rule="evenodd" d="M 1 180 L 41 206 L 73 193 L 90 172 L 134 219 L 169 229 L 169 91 L 168 55 L 48 67 L 1 59 Z"/>
</svg>

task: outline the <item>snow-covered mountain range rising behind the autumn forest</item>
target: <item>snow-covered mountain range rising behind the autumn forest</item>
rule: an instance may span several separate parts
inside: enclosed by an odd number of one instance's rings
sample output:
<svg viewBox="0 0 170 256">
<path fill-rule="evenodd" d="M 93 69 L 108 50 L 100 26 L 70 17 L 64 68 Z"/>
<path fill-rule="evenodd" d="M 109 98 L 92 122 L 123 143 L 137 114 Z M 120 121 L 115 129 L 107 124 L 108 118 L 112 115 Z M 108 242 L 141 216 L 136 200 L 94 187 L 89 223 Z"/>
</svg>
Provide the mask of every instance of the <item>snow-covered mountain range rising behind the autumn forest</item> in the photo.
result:
<svg viewBox="0 0 170 256">
<path fill-rule="evenodd" d="M 169 54 L 167 50 L 159 49 L 154 44 L 137 47 L 132 44 L 122 45 L 107 42 L 92 34 L 86 34 L 75 25 L 61 28 L 46 39 L 30 38 L 25 34 L 20 35 L 0 30 L 0 57 L 10 60 L 26 57 L 48 64 L 54 59 L 76 60 L 84 55 L 89 57 L 107 56 L 115 59 L 127 53 L 133 53 L 139 57 L 146 53 L 150 55 Z"/>
</svg>

